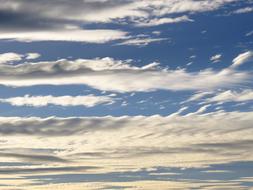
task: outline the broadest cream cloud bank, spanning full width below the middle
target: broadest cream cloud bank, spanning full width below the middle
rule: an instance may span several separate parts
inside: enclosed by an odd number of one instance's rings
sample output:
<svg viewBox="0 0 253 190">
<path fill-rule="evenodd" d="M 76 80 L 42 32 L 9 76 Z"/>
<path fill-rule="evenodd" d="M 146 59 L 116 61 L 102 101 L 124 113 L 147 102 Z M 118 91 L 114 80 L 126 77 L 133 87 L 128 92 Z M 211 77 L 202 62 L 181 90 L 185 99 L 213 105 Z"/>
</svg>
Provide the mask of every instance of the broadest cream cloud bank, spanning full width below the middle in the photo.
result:
<svg viewBox="0 0 253 190">
<path fill-rule="evenodd" d="M 1 117 L 0 133 L 3 140 L 8 139 L 3 143 L 8 147 L 7 153 L 22 161 L 40 158 L 52 158 L 52 161 L 57 158 L 57 161 L 60 158 L 66 163 L 86 163 L 86 166 L 91 163 L 106 168 L 121 159 L 127 168 L 135 169 L 161 165 L 200 167 L 224 160 L 253 160 L 250 146 L 253 141 L 252 116 L 252 112 L 203 115 L 199 112 L 168 117 Z M 29 148 L 31 151 L 20 157 L 13 149 L 16 144 L 21 150 Z M 52 151 L 42 154 L 43 149 Z M 5 160 L 6 154 L 2 156 L 0 154 L 0 160 Z M 157 156 L 158 160 L 153 159 Z M 175 158 L 180 159 L 175 161 Z M 109 165 L 103 165 L 103 161 Z M 116 171 L 124 166 L 116 164 L 114 167 L 113 171 Z"/>
</svg>

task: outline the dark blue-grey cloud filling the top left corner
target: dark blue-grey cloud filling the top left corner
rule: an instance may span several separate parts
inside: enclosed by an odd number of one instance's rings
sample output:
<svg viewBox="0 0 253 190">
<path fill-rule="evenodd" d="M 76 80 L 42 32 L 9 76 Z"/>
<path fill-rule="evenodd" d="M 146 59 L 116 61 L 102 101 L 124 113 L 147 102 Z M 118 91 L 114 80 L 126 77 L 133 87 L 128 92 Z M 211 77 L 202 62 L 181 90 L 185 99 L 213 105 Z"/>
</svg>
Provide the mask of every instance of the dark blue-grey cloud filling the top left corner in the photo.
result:
<svg viewBox="0 0 253 190">
<path fill-rule="evenodd" d="M 78 24 L 80 14 L 123 6 L 130 1 L 0 0 L 1 31 L 34 31 L 64 28 Z"/>
</svg>

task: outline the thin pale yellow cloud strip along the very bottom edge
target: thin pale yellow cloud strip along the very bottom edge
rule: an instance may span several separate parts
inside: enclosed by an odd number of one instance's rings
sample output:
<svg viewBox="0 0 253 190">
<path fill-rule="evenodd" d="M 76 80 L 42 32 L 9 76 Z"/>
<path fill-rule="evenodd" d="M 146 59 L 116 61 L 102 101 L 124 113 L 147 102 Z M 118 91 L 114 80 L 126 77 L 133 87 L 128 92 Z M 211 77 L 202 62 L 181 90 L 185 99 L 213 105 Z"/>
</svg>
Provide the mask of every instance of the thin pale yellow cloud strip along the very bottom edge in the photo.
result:
<svg viewBox="0 0 253 190">
<path fill-rule="evenodd" d="M 119 176 L 117 176 L 119 177 Z M 21 181 L 21 180 L 20 180 Z M 233 189 L 244 190 L 245 186 L 240 182 L 243 179 L 238 181 L 201 181 L 196 183 L 196 181 L 189 180 L 171 180 L 171 179 L 162 179 L 162 180 L 136 180 L 136 181 L 126 181 L 126 182 L 79 182 L 79 183 L 60 183 L 60 184 L 48 184 L 48 185 L 33 185 L 23 187 L 27 190 L 41 189 L 41 190 L 50 190 L 50 189 L 61 189 L 61 190 L 82 190 L 83 187 L 88 187 L 90 190 L 97 189 L 156 189 L 159 187 L 160 190 L 167 189 Z M 245 179 L 246 182 L 251 182 L 250 179 Z M 18 187 L 8 187 L 10 190 L 16 190 Z M 13 188 L 13 189 L 12 189 Z M 251 189 L 250 189 L 251 190 Z"/>
</svg>

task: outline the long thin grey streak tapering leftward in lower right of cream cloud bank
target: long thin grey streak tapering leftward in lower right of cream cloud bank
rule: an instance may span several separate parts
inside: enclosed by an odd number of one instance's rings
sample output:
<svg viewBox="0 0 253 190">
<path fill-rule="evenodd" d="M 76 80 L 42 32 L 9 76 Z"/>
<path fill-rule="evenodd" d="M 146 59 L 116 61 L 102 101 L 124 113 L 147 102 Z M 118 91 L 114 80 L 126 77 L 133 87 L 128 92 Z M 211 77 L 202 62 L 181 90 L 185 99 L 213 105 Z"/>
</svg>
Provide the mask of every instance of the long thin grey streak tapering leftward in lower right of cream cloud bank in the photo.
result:
<svg viewBox="0 0 253 190">
<path fill-rule="evenodd" d="M 187 144 L 181 147 L 131 147 L 122 146 L 120 149 L 104 149 L 104 152 L 83 152 L 78 154 L 73 154 L 70 156 L 77 157 L 79 159 L 123 159 L 123 158 L 136 158 L 136 157 L 147 157 L 147 156 L 157 156 L 157 155 L 184 155 L 184 154 L 199 154 L 207 153 L 214 154 L 217 156 L 240 154 L 240 151 L 244 152 L 251 148 L 253 140 L 241 140 L 236 142 L 223 142 L 223 143 L 200 143 L 200 144 Z"/>
</svg>

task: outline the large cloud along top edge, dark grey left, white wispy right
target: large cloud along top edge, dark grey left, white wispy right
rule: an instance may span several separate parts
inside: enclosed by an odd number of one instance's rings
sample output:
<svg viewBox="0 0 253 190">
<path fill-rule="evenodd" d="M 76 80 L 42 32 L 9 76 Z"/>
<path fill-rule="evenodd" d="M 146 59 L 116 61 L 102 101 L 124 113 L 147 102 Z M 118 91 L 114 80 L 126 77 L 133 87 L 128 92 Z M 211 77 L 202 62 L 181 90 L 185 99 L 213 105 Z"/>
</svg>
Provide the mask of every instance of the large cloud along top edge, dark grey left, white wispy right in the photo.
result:
<svg viewBox="0 0 253 190">
<path fill-rule="evenodd" d="M 123 18 L 148 18 L 151 16 L 163 16 L 174 13 L 198 13 L 212 11 L 235 2 L 236 0 L 214 0 L 214 1 L 89 1 L 76 0 L 74 2 L 53 0 L 33 2 L 27 0 L 1 0 L 1 13 L 4 24 L 9 22 L 22 23 L 34 26 L 46 25 L 54 21 L 85 21 L 85 22 L 110 22 Z M 40 13 L 40 14 L 36 14 Z M 32 17 L 34 16 L 34 17 Z M 37 19 L 42 22 L 36 23 Z M 8 21 L 8 22 L 7 22 Z M 3 22 L 2 22 L 3 23 Z M 15 25 L 15 24 L 13 24 Z M 52 25 L 52 24 L 51 24 Z"/>
</svg>

